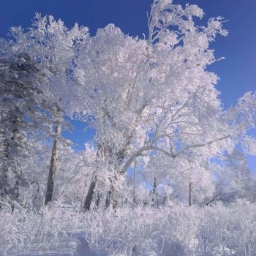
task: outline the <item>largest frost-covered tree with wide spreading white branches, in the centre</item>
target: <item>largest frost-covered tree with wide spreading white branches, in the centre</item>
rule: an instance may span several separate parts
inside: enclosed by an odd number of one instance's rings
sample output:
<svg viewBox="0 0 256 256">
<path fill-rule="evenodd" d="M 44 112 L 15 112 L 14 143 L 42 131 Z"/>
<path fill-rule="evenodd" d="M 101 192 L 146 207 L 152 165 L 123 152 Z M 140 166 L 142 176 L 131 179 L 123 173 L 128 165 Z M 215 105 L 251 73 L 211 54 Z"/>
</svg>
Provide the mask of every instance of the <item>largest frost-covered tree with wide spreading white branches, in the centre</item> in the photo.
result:
<svg viewBox="0 0 256 256">
<path fill-rule="evenodd" d="M 109 178 L 112 192 L 120 174 L 149 152 L 186 159 L 196 151 L 197 162 L 207 162 L 220 151 L 232 150 L 238 138 L 248 138 L 255 96 L 250 94 L 251 102 L 243 103 L 243 98 L 240 106 L 224 113 L 215 88 L 217 75 L 206 70 L 217 61 L 209 44 L 217 34 L 227 34 L 222 19 L 211 18 L 204 27 L 197 26 L 193 17 L 203 17 L 195 5 L 183 8 L 156 0 L 148 15 L 147 40 L 129 37 L 110 24 L 80 51 L 74 77 L 88 92 L 98 156 L 113 176 Z M 239 118 L 242 105 L 251 105 L 251 112 L 250 117 L 244 116 L 244 126 L 238 127 L 229 118 Z M 86 209 L 98 172 L 99 167 Z"/>
</svg>

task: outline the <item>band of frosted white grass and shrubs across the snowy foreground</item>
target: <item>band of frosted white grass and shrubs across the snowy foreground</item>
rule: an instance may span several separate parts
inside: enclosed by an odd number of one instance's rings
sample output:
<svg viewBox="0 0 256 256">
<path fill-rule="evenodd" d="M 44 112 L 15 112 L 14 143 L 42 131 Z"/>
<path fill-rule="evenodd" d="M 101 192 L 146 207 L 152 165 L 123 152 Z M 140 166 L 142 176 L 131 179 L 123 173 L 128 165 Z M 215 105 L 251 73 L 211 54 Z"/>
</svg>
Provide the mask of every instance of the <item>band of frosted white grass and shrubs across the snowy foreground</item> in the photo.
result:
<svg viewBox="0 0 256 256">
<path fill-rule="evenodd" d="M 42 213 L 0 211 L 0 252 L 54 251 L 82 233 L 91 255 L 253 256 L 256 206 L 240 200 L 203 208 L 108 208 L 74 213 L 56 203 Z M 72 236 L 74 234 L 74 236 Z M 86 245 L 87 246 L 87 245 Z"/>
</svg>

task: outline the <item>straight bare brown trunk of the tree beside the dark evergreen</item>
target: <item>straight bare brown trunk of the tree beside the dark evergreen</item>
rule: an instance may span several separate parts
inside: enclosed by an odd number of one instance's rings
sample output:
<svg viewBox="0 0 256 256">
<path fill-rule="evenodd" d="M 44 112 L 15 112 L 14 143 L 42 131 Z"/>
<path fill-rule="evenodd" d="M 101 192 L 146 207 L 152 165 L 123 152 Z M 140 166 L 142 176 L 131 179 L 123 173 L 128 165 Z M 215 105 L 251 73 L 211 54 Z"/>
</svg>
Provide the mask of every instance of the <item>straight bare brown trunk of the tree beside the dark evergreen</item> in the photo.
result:
<svg viewBox="0 0 256 256">
<path fill-rule="evenodd" d="M 59 111 L 60 112 L 60 111 Z M 61 124 L 56 125 L 56 135 L 61 135 Z M 53 141 L 53 151 L 50 158 L 50 170 L 48 175 L 48 184 L 45 193 L 45 206 L 52 201 L 53 197 L 53 186 L 54 180 L 58 167 L 58 159 L 59 159 L 59 140 L 56 138 Z"/>
</svg>

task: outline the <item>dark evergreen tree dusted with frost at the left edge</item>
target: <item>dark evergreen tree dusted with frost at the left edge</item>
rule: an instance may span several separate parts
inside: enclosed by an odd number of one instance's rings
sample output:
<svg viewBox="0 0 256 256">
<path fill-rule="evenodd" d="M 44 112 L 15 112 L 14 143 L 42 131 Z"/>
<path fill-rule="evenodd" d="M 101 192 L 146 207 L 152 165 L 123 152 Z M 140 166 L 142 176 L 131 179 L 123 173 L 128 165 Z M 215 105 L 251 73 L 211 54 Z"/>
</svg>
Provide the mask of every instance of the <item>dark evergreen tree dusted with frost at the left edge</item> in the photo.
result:
<svg viewBox="0 0 256 256">
<path fill-rule="evenodd" d="M 50 133 L 50 108 L 45 105 L 38 84 L 44 74 L 31 56 L 2 41 L 0 53 L 0 157 L 1 197 L 20 203 L 23 182 L 18 163 L 30 154 L 29 135 L 40 130 Z"/>
</svg>

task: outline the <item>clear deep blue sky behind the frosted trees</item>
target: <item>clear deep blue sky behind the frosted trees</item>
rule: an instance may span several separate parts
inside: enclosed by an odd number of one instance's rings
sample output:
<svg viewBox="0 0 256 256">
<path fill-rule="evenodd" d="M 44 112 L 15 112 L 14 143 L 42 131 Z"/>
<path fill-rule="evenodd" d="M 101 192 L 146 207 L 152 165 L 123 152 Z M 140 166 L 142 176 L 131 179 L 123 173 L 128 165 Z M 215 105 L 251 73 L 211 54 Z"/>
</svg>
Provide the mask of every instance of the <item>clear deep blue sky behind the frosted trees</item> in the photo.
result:
<svg viewBox="0 0 256 256">
<path fill-rule="evenodd" d="M 176 4 L 197 4 L 206 13 L 204 20 L 222 16 L 228 37 L 218 37 L 212 48 L 216 56 L 225 56 L 209 69 L 221 79 L 217 89 L 225 108 L 236 104 L 246 91 L 256 89 L 256 0 L 175 0 Z M 10 26 L 28 27 L 35 12 L 61 18 L 66 26 L 88 26 L 91 34 L 99 27 L 115 23 L 130 35 L 147 34 L 146 12 L 150 0 L 1 0 L 0 37 Z M 75 133 L 67 135 L 81 148 L 86 135 L 82 124 L 75 122 Z M 91 134 L 91 132 L 89 132 Z M 249 166 L 256 167 L 249 157 Z"/>
</svg>

